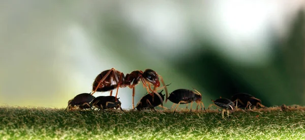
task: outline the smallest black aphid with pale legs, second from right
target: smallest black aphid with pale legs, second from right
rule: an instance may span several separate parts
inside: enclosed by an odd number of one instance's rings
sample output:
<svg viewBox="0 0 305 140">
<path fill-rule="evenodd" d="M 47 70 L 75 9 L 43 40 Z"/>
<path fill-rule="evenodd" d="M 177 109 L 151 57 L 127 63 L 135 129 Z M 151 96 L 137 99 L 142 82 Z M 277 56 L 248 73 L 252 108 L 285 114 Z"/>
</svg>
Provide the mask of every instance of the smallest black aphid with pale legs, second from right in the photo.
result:
<svg viewBox="0 0 305 140">
<path fill-rule="evenodd" d="M 234 111 L 234 103 L 231 101 L 231 100 L 229 100 L 229 99 L 227 99 L 227 98 L 219 98 L 219 99 L 217 99 L 217 100 L 211 100 L 211 101 L 213 101 L 214 103 L 213 104 L 210 104 L 209 106 L 208 106 L 208 109 L 212 106 L 212 105 L 215 105 L 216 107 L 218 107 L 218 108 L 223 108 L 223 111 L 222 111 L 222 116 L 223 116 L 223 118 L 224 118 L 224 112 L 225 111 L 227 111 L 227 113 L 228 113 L 228 117 L 229 117 L 229 110 L 232 110 L 232 111 Z"/>
</svg>

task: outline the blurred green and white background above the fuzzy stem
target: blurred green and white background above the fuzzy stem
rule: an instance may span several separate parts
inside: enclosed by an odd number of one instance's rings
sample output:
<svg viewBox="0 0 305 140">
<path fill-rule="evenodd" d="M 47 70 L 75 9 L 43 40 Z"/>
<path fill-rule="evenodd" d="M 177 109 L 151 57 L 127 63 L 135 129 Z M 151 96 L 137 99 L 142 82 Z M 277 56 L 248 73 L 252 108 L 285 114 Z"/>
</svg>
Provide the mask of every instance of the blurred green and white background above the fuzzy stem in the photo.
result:
<svg viewBox="0 0 305 140">
<path fill-rule="evenodd" d="M 266 106 L 305 105 L 304 7 L 300 0 L 1 1 L 0 105 L 66 107 L 112 67 L 153 69 L 172 83 L 169 92 L 194 87 L 205 106 L 239 92 Z M 135 102 L 145 93 L 136 86 Z M 118 97 L 131 108 L 132 89 Z"/>
</svg>

